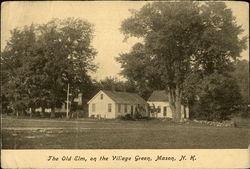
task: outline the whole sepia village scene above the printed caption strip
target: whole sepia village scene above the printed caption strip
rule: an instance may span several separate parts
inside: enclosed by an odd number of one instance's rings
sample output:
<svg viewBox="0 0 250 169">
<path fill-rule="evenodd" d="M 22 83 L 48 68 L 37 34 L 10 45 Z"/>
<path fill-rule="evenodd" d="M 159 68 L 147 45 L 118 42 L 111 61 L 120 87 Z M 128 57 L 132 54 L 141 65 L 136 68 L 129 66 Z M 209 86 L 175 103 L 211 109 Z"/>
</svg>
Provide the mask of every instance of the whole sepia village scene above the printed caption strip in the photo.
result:
<svg viewBox="0 0 250 169">
<path fill-rule="evenodd" d="M 4 2 L 1 149 L 247 149 L 248 38 L 247 2 Z"/>
</svg>

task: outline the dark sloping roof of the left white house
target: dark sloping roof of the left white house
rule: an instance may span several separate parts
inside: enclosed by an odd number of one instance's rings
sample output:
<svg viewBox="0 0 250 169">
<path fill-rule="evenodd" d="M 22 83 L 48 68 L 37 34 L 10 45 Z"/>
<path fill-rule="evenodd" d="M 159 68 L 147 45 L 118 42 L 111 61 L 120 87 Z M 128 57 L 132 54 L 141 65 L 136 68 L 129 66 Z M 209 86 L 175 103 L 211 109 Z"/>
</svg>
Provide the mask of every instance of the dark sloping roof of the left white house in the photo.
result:
<svg viewBox="0 0 250 169">
<path fill-rule="evenodd" d="M 147 102 L 136 93 L 116 92 L 109 90 L 102 91 L 117 103 L 147 104 Z"/>
</svg>

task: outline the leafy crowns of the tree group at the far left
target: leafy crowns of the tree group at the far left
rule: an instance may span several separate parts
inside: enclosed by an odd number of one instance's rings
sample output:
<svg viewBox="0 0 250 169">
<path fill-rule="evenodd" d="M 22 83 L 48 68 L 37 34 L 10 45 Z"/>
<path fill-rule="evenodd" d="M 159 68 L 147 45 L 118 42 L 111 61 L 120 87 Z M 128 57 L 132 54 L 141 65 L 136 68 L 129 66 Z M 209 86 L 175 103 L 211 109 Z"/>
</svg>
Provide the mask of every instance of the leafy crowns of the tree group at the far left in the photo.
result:
<svg viewBox="0 0 250 169">
<path fill-rule="evenodd" d="M 11 31 L 1 56 L 3 94 L 15 110 L 60 107 L 91 86 L 93 25 L 81 19 L 52 19 Z"/>
</svg>

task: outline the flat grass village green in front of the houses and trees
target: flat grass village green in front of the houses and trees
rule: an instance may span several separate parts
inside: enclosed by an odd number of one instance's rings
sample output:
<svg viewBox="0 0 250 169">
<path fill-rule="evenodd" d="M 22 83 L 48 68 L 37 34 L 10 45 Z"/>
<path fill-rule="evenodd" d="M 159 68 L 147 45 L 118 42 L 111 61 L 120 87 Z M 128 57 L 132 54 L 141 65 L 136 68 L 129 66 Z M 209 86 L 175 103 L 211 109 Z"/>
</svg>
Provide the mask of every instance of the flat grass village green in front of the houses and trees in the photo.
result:
<svg viewBox="0 0 250 169">
<path fill-rule="evenodd" d="M 2 119 L 3 149 L 247 148 L 249 128 L 170 121 Z"/>
</svg>

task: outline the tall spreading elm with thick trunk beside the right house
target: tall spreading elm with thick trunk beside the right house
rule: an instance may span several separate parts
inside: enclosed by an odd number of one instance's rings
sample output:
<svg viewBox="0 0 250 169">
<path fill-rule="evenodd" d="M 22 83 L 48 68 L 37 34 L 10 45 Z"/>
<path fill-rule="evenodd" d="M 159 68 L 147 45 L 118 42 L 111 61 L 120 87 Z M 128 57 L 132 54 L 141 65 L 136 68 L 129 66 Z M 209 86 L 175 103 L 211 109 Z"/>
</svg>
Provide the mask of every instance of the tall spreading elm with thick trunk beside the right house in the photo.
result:
<svg viewBox="0 0 250 169">
<path fill-rule="evenodd" d="M 229 71 L 247 40 L 239 38 L 243 29 L 223 2 L 148 3 L 132 11 L 121 31 L 125 38 L 143 40 L 117 59 L 121 73 L 148 91 L 158 82 L 157 88 L 169 92 L 176 120 L 181 118 L 180 104 L 194 97 L 185 92 L 188 79 Z"/>
</svg>

